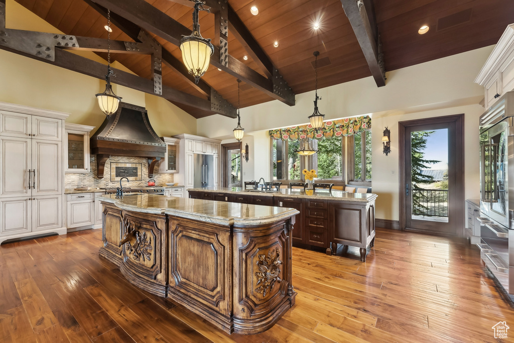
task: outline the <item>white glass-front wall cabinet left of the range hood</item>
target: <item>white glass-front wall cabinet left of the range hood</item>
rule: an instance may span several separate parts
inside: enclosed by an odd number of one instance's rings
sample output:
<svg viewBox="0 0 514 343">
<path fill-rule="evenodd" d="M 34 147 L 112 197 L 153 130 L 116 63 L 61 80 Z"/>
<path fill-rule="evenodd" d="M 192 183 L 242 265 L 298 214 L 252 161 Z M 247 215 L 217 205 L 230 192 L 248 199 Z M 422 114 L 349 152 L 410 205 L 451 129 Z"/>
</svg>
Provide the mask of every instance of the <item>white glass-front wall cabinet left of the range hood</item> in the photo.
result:
<svg viewBox="0 0 514 343">
<path fill-rule="evenodd" d="M 95 127 L 65 123 L 66 173 L 89 172 L 89 132 Z"/>
</svg>

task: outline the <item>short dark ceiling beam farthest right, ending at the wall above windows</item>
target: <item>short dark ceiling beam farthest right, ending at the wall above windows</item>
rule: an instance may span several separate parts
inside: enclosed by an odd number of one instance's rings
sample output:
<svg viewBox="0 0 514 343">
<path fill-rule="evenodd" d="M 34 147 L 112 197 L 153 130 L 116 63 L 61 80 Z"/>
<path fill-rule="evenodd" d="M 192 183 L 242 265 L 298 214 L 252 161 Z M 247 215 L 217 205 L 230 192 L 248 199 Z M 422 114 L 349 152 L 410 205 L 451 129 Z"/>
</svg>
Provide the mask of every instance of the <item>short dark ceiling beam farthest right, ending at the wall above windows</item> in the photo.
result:
<svg viewBox="0 0 514 343">
<path fill-rule="evenodd" d="M 377 86 L 385 86 L 386 70 L 383 63 L 380 35 L 377 33 L 375 15 L 369 13 L 369 11 L 373 11 L 372 2 L 370 0 L 341 0 L 341 4 Z"/>
</svg>

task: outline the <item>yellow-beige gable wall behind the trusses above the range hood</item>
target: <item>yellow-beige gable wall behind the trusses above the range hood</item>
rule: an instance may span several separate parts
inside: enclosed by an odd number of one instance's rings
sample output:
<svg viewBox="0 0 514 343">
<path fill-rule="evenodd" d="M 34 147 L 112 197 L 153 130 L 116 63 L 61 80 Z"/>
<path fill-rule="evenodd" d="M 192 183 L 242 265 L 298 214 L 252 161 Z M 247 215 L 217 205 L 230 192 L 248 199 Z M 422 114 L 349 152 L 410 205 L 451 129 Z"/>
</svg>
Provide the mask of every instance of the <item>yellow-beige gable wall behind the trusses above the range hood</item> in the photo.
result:
<svg viewBox="0 0 514 343">
<path fill-rule="evenodd" d="M 7 0 L 6 6 L 8 28 L 62 33 L 14 0 Z M 79 55 L 106 64 L 93 52 Z M 113 66 L 127 71 L 119 63 Z M 0 80 L 0 101 L 69 113 L 67 122 L 97 128 L 105 119 L 95 97 L 105 89 L 103 80 L 4 50 L 0 50 Z M 113 89 L 122 101 L 146 107 L 158 135 L 196 134 L 196 119 L 169 101 L 124 86 Z"/>
</svg>

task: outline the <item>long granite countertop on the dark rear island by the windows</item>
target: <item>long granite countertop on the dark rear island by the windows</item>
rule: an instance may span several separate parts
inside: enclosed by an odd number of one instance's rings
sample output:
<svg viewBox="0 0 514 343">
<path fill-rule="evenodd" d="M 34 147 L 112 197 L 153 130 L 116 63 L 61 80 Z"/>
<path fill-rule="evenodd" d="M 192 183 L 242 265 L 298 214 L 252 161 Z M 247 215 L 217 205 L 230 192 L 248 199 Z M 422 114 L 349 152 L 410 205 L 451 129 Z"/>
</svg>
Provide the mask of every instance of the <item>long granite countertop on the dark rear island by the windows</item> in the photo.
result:
<svg viewBox="0 0 514 343">
<path fill-rule="evenodd" d="M 199 191 L 199 192 L 223 192 L 223 193 L 237 193 L 237 194 L 249 194 L 249 195 L 263 195 L 263 196 L 279 196 L 279 197 L 300 197 L 316 200 L 337 200 L 337 201 L 352 201 L 352 202 L 370 202 L 375 200 L 377 197 L 374 193 L 348 193 L 346 191 L 340 191 L 333 189 L 328 191 L 325 189 L 318 189 L 312 194 L 307 193 L 303 189 L 288 189 L 281 188 L 278 191 L 266 191 L 256 192 L 250 189 L 244 190 L 241 187 L 202 187 L 202 188 L 189 188 L 188 191 Z M 307 190 L 308 191 L 308 190 Z"/>
</svg>

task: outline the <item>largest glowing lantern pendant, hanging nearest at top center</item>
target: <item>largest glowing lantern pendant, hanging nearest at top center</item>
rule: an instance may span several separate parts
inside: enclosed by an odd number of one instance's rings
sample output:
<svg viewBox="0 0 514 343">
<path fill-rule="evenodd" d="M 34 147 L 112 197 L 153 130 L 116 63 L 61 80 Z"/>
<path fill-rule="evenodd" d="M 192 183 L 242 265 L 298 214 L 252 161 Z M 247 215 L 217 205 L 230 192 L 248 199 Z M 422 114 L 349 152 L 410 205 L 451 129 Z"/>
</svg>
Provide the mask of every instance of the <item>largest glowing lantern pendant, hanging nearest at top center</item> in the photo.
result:
<svg viewBox="0 0 514 343">
<path fill-rule="evenodd" d="M 198 11 L 211 11 L 204 8 L 204 2 L 194 0 L 193 10 L 193 32 L 191 35 L 182 37 L 180 40 L 180 51 L 182 51 L 182 62 L 186 65 L 189 74 L 194 77 L 194 82 L 198 83 L 200 78 L 209 68 L 209 61 L 214 52 L 214 47 L 210 39 L 205 39 L 200 35 L 200 24 L 198 24 Z"/>
</svg>

